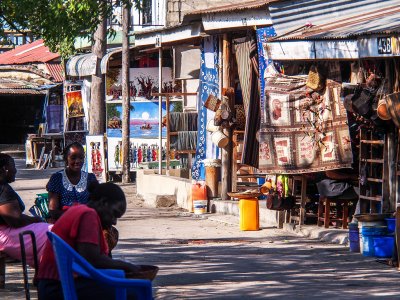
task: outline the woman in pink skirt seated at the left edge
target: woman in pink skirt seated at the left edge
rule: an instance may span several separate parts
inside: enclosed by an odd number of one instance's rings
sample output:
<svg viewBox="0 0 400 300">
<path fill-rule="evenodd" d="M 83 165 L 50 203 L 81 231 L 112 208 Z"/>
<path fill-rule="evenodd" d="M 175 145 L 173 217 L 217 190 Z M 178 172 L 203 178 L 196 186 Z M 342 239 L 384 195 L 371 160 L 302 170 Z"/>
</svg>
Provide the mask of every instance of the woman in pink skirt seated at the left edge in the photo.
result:
<svg viewBox="0 0 400 300">
<path fill-rule="evenodd" d="M 47 240 L 46 232 L 50 224 L 44 223 L 41 218 L 24 215 L 25 205 L 9 183 L 15 181 L 17 169 L 14 159 L 0 153 L 0 251 L 12 258 L 21 259 L 19 233 L 31 230 L 36 237 L 38 258 L 42 257 Z M 30 266 L 34 266 L 33 248 L 30 239 L 25 243 L 26 259 Z"/>
</svg>

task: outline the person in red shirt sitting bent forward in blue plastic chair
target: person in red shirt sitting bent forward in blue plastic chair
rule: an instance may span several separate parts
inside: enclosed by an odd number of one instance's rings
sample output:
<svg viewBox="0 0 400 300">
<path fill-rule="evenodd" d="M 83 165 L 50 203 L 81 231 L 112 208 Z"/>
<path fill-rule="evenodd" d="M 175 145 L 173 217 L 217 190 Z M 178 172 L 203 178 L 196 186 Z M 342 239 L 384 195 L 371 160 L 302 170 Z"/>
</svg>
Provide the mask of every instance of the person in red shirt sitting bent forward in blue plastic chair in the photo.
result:
<svg viewBox="0 0 400 300">
<path fill-rule="evenodd" d="M 113 183 L 91 185 L 91 196 L 87 205 L 75 205 L 67 209 L 54 224 L 52 232 L 60 236 L 81 256 L 96 268 L 120 269 L 127 276 L 140 277 L 139 266 L 112 259 L 108 256 L 107 244 L 102 229 L 115 225 L 126 210 L 126 199 L 121 188 Z M 92 192 L 92 189 L 94 191 Z M 48 242 L 40 263 L 38 274 L 38 296 L 40 300 L 62 299 L 62 287 L 57 273 L 53 248 Z M 93 280 L 76 277 L 75 288 L 79 299 L 114 299 L 114 289 Z M 128 299 L 129 297 L 128 292 Z"/>
</svg>

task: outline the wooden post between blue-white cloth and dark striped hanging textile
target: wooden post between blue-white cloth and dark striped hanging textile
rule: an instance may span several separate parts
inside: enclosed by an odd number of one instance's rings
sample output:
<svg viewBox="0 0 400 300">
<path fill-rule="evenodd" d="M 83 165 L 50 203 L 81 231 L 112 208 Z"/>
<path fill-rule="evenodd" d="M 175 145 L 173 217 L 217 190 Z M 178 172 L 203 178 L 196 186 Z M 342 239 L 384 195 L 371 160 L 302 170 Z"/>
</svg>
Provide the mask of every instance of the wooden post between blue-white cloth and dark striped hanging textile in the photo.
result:
<svg viewBox="0 0 400 300">
<path fill-rule="evenodd" d="M 230 85 L 230 53 L 231 43 L 228 39 L 228 34 L 224 34 L 222 38 L 222 87 L 227 89 Z M 231 100 L 231 99 L 230 99 Z M 229 101 L 231 102 L 231 101 Z M 233 103 L 229 103 L 231 110 L 233 110 Z M 232 189 L 232 130 L 226 129 L 224 133 L 229 138 L 228 146 L 222 149 L 222 182 L 221 182 L 221 198 L 222 200 L 228 199 L 228 192 Z"/>
</svg>

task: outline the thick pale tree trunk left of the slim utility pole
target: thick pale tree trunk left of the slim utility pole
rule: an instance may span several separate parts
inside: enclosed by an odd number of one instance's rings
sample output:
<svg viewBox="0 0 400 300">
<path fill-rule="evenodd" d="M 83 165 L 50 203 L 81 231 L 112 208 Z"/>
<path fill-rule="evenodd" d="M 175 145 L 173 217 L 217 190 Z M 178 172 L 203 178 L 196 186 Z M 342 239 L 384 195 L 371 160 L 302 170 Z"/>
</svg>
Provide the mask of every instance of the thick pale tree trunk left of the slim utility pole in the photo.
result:
<svg viewBox="0 0 400 300">
<path fill-rule="evenodd" d="M 92 53 L 97 56 L 96 74 L 92 75 L 90 89 L 89 134 L 104 134 L 106 125 L 105 76 L 101 74 L 101 60 L 107 49 L 107 20 L 104 19 L 94 33 Z"/>
</svg>

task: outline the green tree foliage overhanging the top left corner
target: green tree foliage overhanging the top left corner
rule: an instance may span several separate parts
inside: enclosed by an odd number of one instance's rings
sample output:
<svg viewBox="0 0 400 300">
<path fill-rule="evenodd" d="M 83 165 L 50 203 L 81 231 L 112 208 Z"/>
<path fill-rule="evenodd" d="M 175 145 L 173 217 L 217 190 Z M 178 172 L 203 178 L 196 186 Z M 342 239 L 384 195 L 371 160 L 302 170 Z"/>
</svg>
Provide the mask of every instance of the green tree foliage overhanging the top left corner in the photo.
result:
<svg viewBox="0 0 400 300">
<path fill-rule="evenodd" d="M 140 0 L 0 0 L 0 35 L 4 29 L 30 30 L 63 58 L 74 54 L 77 37 L 90 37 L 114 6 L 140 7 Z"/>
</svg>

